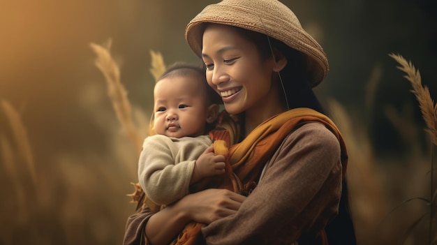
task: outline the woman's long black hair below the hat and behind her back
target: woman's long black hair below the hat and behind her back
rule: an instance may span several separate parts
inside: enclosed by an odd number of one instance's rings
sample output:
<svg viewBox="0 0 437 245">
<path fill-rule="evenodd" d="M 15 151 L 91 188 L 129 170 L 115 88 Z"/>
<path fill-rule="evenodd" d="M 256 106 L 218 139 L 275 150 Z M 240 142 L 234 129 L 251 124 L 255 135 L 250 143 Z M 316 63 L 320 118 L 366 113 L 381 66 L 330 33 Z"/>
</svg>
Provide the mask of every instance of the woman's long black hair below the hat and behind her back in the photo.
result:
<svg viewBox="0 0 437 245">
<path fill-rule="evenodd" d="M 267 59 L 272 55 L 275 58 L 275 51 L 286 57 L 287 64 L 279 72 L 278 78 L 285 95 L 283 101 L 288 105 L 288 109 L 309 107 L 326 114 L 310 86 L 305 68 L 306 60 L 302 53 L 269 36 L 239 27 L 235 28 L 238 28 L 244 37 L 257 45 L 262 59 Z M 349 206 L 348 185 L 346 178 L 343 178 L 339 214 L 325 227 L 329 244 L 357 244 Z"/>
</svg>

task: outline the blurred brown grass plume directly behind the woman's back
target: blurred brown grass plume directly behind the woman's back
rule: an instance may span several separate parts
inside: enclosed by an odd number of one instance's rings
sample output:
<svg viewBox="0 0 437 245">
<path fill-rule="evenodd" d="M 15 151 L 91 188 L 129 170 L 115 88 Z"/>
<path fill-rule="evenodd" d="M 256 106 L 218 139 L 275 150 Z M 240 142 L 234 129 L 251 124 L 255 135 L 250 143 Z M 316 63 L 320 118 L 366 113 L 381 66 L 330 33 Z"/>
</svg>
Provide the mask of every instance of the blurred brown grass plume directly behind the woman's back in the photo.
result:
<svg viewBox="0 0 437 245">
<path fill-rule="evenodd" d="M 346 178 L 350 193 L 350 207 L 359 241 L 378 240 L 374 229 L 387 212 L 387 199 L 382 179 L 378 175 L 375 156 L 366 130 L 355 124 L 345 108 L 329 99 L 329 112 L 339 127 L 350 156 Z M 384 231 L 385 232 L 385 231 Z"/>
</svg>

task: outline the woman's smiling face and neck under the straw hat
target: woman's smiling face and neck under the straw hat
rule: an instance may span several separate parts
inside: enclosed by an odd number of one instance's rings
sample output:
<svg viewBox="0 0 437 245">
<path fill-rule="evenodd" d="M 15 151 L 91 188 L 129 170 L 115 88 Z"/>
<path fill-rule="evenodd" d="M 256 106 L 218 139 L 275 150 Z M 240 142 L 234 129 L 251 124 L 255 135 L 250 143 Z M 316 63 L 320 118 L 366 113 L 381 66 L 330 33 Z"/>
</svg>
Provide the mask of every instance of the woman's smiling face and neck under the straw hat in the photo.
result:
<svg viewBox="0 0 437 245">
<path fill-rule="evenodd" d="M 274 61 L 261 59 L 255 43 L 238 29 L 208 24 L 202 38 L 202 59 L 208 84 L 221 95 L 228 113 L 271 114 L 272 105 L 279 101 L 272 82 Z"/>
</svg>

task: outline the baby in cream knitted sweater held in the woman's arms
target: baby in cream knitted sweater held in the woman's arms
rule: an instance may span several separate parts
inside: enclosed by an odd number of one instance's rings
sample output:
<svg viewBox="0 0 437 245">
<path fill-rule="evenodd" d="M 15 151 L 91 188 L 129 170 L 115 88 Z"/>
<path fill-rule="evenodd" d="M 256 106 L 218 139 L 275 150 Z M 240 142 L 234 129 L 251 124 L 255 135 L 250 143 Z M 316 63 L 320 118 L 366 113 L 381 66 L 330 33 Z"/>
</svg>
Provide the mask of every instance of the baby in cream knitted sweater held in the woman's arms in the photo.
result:
<svg viewBox="0 0 437 245">
<path fill-rule="evenodd" d="M 214 154 L 207 135 L 214 128 L 221 97 L 209 87 L 205 70 L 170 66 L 154 87 L 156 133 L 142 144 L 138 179 L 147 198 L 168 205 L 189 193 L 191 184 L 225 172 L 225 156 Z"/>
</svg>

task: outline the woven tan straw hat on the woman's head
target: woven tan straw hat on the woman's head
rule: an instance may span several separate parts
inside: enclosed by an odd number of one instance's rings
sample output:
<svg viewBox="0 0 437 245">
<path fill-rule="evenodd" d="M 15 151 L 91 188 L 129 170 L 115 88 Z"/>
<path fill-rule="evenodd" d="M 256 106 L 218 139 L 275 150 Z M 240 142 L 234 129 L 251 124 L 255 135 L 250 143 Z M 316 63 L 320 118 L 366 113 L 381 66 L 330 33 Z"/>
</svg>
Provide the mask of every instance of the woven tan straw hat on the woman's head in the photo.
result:
<svg viewBox="0 0 437 245">
<path fill-rule="evenodd" d="M 325 78 L 328 61 L 323 48 L 302 29 L 290 8 L 276 0 L 223 0 L 206 6 L 188 23 L 185 38 L 191 50 L 200 57 L 202 52 L 202 23 L 228 24 L 249 29 L 282 41 L 302 52 L 311 87 Z"/>
</svg>

